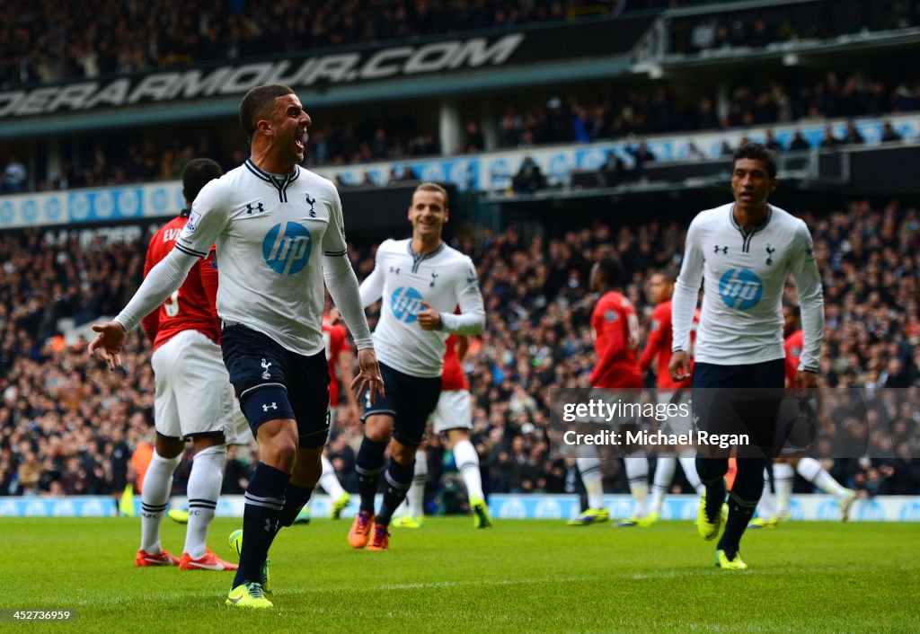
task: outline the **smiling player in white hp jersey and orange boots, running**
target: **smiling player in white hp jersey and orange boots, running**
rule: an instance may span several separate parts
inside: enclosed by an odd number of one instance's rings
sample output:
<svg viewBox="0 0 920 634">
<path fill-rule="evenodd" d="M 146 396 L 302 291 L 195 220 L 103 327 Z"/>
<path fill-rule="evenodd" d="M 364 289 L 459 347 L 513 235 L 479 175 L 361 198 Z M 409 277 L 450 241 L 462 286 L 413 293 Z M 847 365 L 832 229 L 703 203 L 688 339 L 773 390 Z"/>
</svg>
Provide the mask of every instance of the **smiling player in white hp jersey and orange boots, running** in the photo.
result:
<svg viewBox="0 0 920 634">
<path fill-rule="evenodd" d="M 355 461 L 361 510 L 348 535 L 352 548 L 389 548 L 390 520 L 412 484 L 416 451 L 441 396 L 444 341 L 450 333 L 478 334 L 486 325 L 473 261 L 443 242 L 449 214 L 443 187 L 421 183 L 408 208 L 412 237 L 385 240 L 361 285 L 365 307 L 383 298 L 374 343 L 386 396 L 364 409 L 364 438 Z M 384 501 L 374 514 L 381 474 Z"/>
</svg>

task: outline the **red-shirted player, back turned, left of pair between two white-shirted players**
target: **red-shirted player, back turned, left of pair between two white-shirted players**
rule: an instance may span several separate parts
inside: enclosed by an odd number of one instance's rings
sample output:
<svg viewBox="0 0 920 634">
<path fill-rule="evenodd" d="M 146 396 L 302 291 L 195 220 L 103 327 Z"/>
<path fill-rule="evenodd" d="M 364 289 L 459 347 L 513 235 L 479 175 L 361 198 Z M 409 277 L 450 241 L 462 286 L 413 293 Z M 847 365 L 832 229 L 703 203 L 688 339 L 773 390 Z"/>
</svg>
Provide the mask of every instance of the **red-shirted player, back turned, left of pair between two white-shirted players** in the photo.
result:
<svg viewBox="0 0 920 634">
<path fill-rule="evenodd" d="M 625 295 L 616 291 L 624 277 L 619 259 L 607 257 L 594 263 L 588 284 L 601 295 L 591 316 L 591 330 L 597 364 L 591 373 L 592 387 L 606 389 L 640 389 L 642 374 L 638 369 L 638 315 Z M 588 509 L 569 520 L 569 525 L 586 526 L 606 522 L 610 513 L 604 506 L 601 460 L 593 445 L 580 445 L 577 464 L 588 495 Z M 649 492 L 649 465 L 644 451 L 625 457 L 629 489 L 636 501 L 636 513 L 627 522 L 646 515 L 645 498 Z M 638 463 L 641 463 L 639 465 Z"/>
</svg>

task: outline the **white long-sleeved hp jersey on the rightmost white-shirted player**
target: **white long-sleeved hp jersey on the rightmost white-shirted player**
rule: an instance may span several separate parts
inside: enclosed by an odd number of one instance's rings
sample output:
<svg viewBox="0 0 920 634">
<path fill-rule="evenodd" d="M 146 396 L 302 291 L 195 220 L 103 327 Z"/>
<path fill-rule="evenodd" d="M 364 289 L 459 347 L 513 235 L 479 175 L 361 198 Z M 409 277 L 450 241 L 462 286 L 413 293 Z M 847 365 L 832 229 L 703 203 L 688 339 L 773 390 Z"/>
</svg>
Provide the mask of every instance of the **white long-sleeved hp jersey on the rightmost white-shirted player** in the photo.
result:
<svg viewBox="0 0 920 634">
<path fill-rule="evenodd" d="M 805 345 L 799 369 L 816 372 L 824 336 L 821 275 L 804 222 L 768 206 L 765 223 L 745 233 L 734 203 L 699 213 L 687 231 L 674 286 L 673 350 L 690 350 L 700 281 L 697 362 L 736 365 L 782 359 L 783 289 L 791 271 L 799 291 Z"/>
</svg>

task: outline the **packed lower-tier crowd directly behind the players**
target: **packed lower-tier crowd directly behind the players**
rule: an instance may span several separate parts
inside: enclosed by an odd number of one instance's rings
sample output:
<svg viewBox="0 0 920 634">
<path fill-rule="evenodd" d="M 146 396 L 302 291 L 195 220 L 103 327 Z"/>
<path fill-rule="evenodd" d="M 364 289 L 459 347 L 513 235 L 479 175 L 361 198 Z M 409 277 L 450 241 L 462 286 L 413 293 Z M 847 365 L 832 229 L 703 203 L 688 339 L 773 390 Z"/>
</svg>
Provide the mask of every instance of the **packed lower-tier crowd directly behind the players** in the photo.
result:
<svg viewBox="0 0 920 634">
<path fill-rule="evenodd" d="M 804 217 L 825 286 L 822 384 L 920 387 L 917 210 L 896 200 L 854 201 L 845 210 Z M 594 363 L 590 265 L 610 247 L 622 254 L 631 271 L 625 294 L 643 316 L 644 339 L 651 306 L 643 285 L 651 271 L 676 263 L 684 233 L 676 223 L 595 221 L 555 236 L 524 240 L 509 228 L 458 240 L 477 263 L 489 312 L 488 328 L 464 362 L 488 490 L 575 490 L 570 459 L 547 441 L 548 404 L 553 387 L 586 386 Z M 86 340 L 68 345 L 56 328 L 63 317 L 80 324 L 117 312 L 140 282 L 146 239 L 97 236 L 81 244 L 74 235 L 40 230 L 0 235 L 0 495 L 119 493 L 131 481 L 132 452 L 152 442 L 149 345 L 133 332 L 122 354 L 125 371 L 109 374 L 87 363 Z M 352 249 L 359 278 L 373 269 L 373 254 L 369 246 Z M 794 298 L 790 287 L 788 299 Z M 829 407 L 816 457 L 863 494 L 920 493 L 918 403 L 914 395 L 857 417 L 868 425 Z M 361 436 L 360 423 L 347 421 L 330 444 L 330 458 L 351 490 Z M 861 442 L 865 451 L 834 460 L 844 441 Z M 247 446 L 231 451 L 224 492 L 238 493 L 254 457 Z M 435 487 L 454 481 L 452 456 L 440 444 L 430 448 L 429 462 Z M 622 474 L 610 478 L 607 490 L 626 490 Z"/>
</svg>

